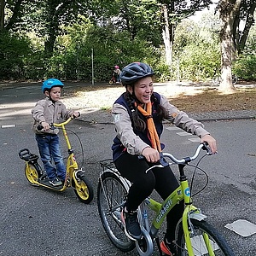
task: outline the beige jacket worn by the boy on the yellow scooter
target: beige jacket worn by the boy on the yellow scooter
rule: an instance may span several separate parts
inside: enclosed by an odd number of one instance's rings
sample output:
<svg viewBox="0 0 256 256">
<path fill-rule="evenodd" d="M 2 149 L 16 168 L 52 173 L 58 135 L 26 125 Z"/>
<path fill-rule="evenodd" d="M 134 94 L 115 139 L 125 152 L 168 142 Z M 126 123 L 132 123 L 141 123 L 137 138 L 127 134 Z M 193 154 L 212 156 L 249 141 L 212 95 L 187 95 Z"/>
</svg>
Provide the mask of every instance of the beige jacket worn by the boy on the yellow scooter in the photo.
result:
<svg viewBox="0 0 256 256">
<path fill-rule="evenodd" d="M 51 123 L 61 123 L 61 121 L 68 119 L 73 114 L 73 111 L 67 110 L 66 106 L 60 102 L 51 102 L 48 97 L 44 100 L 40 100 L 36 103 L 36 106 L 32 108 L 32 117 L 34 123 L 32 125 L 32 130 L 37 134 L 57 134 L 59 129 L 48 130 L 48 131 L 38 131 L 37 127 L 42 122 L 48 124 Z"/>
</svg>

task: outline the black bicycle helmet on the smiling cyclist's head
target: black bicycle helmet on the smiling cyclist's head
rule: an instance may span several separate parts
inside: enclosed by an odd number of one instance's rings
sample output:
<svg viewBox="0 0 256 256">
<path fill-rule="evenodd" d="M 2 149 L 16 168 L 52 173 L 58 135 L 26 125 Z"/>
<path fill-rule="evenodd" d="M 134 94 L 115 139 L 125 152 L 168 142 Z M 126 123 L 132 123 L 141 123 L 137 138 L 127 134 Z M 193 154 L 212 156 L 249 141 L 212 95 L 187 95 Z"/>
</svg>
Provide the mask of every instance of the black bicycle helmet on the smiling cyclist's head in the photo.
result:
<svg viewBox="0 0 256 256">
<path fill-rule="evenodd" d="M 154 75 L 154 71 L 148 64 L 143 62 L 132 62 L 122 69 L 120 73 L 120 79 L 122 84 L 132 84 L 137 79 L 145 77 L 151 77 Z"/>
</svg>

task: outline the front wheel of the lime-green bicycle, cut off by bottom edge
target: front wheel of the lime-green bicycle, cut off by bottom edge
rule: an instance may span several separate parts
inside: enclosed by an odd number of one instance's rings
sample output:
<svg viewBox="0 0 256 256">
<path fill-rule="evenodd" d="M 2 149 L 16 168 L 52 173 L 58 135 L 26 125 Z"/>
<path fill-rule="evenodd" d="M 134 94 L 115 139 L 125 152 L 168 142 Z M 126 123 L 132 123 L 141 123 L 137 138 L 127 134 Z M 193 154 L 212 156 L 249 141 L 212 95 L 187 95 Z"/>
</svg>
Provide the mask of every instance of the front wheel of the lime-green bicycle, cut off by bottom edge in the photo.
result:
<svg viewBox="0 0 256 256">
<path fill-rule="evenodd" d="M 212 249 L 215 256 L 235 256 L 224 237 L 211 224 L 205 220 L 196 220 L 191 218 L 195 230 L 195 236 L 191 238 L 192 247 L 195 255 L 210 255 L 207 251 L 207 245 L 202 237 L 202 234 L 207 234 L 211 241 Z M 177 228 L 177 255 L 189 255 L 185 245 L 185 238 L 183 236 L 182 223 L 178 224 Z M 211 254 L 212 255 L 212 254 Z"/>
</svg>

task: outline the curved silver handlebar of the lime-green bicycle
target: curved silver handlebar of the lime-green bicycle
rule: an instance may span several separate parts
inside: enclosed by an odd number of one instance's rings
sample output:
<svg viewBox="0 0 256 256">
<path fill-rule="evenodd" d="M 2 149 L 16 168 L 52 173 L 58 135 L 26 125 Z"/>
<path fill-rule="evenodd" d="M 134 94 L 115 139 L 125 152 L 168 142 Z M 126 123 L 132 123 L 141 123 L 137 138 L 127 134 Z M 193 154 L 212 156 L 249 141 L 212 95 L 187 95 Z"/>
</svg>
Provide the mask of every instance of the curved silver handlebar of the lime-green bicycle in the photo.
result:
<svg viewBox="0 0 256 256">
<path fill-rule="evenodd" d="M 208 144 L 207 143 L 200 143 L 198 145 L 198 147 L 195 149 L 195 154 L 192 155 L 192 156 L 187 156 L 187 157 L 183 157 L 182 159 L 177 159 L 175 156 L 173 156 L 172 154 L 170 153 L 164 153 L 164 152 L 161 152 L 160 153 L 160 165 L 155 165 L 155 166 L 151 166 L 148 168 L 148 170 L 146 171 L 146 173 L 155 168 L 155 167 L 166 167 L 166 166 L 170 166 L 172 165 L 172 163 L 168 163 L 165 159 L 165 157 L 169 158 L 172 160 L 173 163 L 175 164 L 178 164 L 178 165 L 185 165 L 193 160 L 195 160 L 199 154 L 200 154 L 200 151 L 201 149 L 207 151 L 207 154 L 208 155 L 211 155 L 212 154 L 212 151 L 211 149 L 208 147 Z"/>
</svg>

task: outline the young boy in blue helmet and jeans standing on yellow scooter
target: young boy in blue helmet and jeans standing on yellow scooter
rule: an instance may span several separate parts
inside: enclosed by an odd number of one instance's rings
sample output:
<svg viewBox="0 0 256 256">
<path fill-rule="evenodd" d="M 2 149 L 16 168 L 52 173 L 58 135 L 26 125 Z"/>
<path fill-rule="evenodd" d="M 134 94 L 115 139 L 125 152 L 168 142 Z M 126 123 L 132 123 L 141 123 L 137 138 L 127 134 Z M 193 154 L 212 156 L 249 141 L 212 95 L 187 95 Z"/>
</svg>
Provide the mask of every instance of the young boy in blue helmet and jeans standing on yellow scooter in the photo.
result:
<svg viewBox="0 0 256 256">
<path fill-rule="evenodd" d="M 71 116 L 79 117 L 80 113 L 67 110 L 60 102 L 61 89 L 64 84 L 58 79 L 48 79 L 42 85 L 42 91 L 46 96 L 44 100 L 36 103 L 32 108 L 34 124 L 32 130 L 36 134 L 38 150 L 44 164 L 44 170 L 49 177 L 49 183 L 53 186 L 61 186 L 66 177 L 66 166 L 64 165 L 58 129 L 51 130 L 49 124 L 61 123 L 61 119 L 68 119 Z M 44 127 L 38 131 L 38 125 Z M 54 163 L 54 164 L 53 164 Z"/>
</svg>

